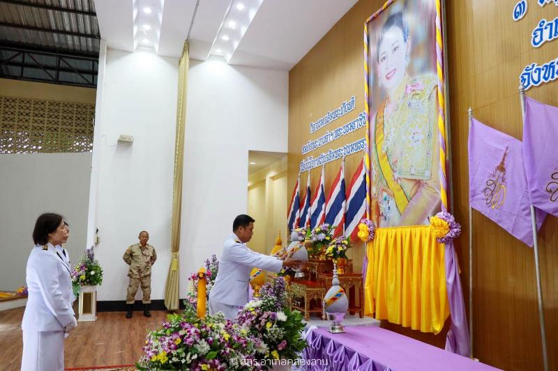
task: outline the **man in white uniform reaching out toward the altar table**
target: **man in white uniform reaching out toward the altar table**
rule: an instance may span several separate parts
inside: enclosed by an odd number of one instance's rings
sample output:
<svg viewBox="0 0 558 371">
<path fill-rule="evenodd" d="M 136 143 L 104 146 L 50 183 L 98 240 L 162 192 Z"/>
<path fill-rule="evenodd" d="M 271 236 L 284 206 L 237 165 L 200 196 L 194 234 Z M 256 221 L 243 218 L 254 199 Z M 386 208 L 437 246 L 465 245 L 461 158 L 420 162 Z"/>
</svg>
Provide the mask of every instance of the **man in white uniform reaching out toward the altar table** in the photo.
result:
<svg viewBox="0 0 558 371">
<path fill-rule="evenodd" d="M 233 233 L 225 240 L 217 278 L 209 292 L 210 313 L 223 312 L 227 319 L 236 317 L 239 309 L 248 303 L 252 268 L 278 272 L 282 267 L 296 267 L 301 264 L 300 260 L 278 260 L 250 250 L 246 242 L 252 239 L 254 222 L 248 215 L 239 215 L 232 223 Z"/>
</svg>

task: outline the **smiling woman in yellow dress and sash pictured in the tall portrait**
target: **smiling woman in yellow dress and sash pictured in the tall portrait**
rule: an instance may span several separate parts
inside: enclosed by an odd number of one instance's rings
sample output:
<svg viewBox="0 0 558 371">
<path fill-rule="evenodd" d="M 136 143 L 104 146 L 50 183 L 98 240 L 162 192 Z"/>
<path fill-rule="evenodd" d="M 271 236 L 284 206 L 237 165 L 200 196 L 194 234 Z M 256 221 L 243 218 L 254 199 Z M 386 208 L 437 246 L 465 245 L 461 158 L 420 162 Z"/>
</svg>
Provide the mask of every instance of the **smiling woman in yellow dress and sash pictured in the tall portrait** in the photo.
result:
<svg viewBox="0 0 558 371">
<path fill-rule="evenodd" d="M 384 19 L 369 33 L 371 81 L 382 92 L 370 105 L 371 214 L 379 227 L 423 225 L 441 208 L 437 77 L 429 58 L 410 68 L 413 30 L 405 14 Z"/>
</svg>

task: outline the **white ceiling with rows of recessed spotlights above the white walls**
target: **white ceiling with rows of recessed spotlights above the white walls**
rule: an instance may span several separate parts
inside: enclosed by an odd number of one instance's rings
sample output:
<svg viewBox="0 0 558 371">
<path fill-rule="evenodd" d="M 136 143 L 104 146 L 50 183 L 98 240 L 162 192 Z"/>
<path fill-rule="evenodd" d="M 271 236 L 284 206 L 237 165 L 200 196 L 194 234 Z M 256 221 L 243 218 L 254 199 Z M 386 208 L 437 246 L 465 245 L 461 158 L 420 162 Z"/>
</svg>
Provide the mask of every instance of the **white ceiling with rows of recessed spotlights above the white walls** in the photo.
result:
<svg viewBox="0 0 558 371">
<path fill-rule="evenodd" d="M 101 38 L 107 40 L 109 47 L 133 51 L 134 13 L 144 6 L 162 6 L 160 13 L 157 10 L 153 14 L 155 27 L 160 22 L 156 50 L 160 56 L 179 57 L 196 3 L 197 0 L 95 0 Z M 199 0 L 190 32 L 190 58 L 208 58 L 232 3 L 233 0 Z M 229 63 L 289 71 L 354 3 L 356 0 L 262 0 Z"/>
</svg>

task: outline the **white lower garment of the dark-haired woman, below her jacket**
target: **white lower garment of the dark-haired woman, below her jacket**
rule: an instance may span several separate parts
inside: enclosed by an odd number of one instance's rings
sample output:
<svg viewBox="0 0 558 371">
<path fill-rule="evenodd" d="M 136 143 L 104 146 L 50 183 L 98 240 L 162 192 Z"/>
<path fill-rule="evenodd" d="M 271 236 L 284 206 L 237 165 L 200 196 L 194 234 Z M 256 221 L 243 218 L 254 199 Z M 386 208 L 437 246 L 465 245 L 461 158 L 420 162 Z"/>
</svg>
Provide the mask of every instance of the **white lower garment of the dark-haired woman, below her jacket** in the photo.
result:
<svg viewBox="0 0 558 371">
<path fill-rule="evenodd" d="M 23 331 L 22 371 L 63 371 L 64 331 Z"/>
</svg>

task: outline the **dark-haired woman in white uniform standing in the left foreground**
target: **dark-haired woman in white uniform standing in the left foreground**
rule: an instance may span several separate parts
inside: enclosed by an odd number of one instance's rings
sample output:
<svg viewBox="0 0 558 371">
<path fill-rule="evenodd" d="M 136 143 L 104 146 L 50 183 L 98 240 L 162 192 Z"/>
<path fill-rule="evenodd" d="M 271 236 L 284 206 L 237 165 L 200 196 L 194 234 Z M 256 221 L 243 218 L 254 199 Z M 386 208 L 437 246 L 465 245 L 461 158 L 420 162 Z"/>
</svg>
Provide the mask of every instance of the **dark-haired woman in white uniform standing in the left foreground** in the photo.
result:
<svg viewBox="0 0 558 371">
<path fill-rule="evenodd" d="M 22 371 L 64 369 L 64 334 L 75 328 L 77 321 L 70 303 L 70 266 L 54 246 L 67 235 L 58 214 L 43 214 L 35 223 L 36 246 L 27 260 L 29 296 L 22 322 Z"/>
</svg>

